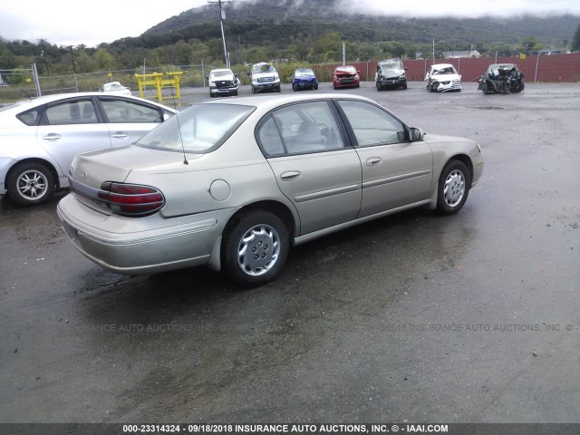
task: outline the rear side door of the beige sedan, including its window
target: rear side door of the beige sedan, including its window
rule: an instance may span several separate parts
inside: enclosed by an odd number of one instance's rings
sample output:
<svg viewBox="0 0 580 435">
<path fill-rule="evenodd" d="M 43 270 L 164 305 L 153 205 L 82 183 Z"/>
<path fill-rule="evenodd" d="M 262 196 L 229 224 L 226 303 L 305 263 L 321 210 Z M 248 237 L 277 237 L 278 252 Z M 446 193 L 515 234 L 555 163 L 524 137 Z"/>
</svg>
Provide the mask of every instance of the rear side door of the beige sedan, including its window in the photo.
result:
<svg viewBox="0 0 580 435">
<path fill-rule="evenodd" d="M 256 129 L 280 190 L 300 216 L 299 234 L 356 218 L 361 161 L 329 102 L 301 102 L 267 115 Z"/>
</svg>

